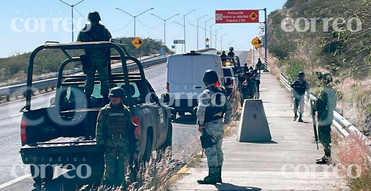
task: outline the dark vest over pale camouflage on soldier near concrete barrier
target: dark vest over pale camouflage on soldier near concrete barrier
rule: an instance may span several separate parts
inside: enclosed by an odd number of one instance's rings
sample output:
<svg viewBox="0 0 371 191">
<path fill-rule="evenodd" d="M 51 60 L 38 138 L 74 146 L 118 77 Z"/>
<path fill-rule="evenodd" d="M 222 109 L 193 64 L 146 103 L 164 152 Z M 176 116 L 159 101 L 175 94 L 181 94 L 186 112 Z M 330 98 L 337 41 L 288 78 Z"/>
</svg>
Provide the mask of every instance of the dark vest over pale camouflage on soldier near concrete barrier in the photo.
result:
<svg viewBox="0 0 371 191">
<path fill-rule="evenodd" d="M 219 90 L 215 86 L 209 86 L 206 89 L 209 89 L 214 92 L 214 95 L 211 96 L 211 99 L 209 101 L 209 106 L 206 107 L 205 110 L 205 119 L 204 119 L 204 124 L 209 123 L 211 121 L 221 119 L 223 118 L 224 113 L 226 112 L 226 102 L 227 102 L 227 92 L 225 90 Z M 215 100 L 215 105 L 213 101 Z M 224 103 L 222 105 L 222 103 Z M 222 112 L 221 116 L 216 115 L 217 113 Z"/>
</svg>

